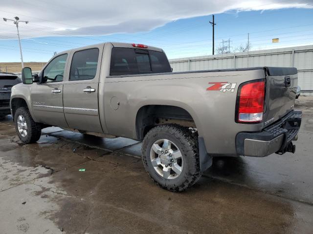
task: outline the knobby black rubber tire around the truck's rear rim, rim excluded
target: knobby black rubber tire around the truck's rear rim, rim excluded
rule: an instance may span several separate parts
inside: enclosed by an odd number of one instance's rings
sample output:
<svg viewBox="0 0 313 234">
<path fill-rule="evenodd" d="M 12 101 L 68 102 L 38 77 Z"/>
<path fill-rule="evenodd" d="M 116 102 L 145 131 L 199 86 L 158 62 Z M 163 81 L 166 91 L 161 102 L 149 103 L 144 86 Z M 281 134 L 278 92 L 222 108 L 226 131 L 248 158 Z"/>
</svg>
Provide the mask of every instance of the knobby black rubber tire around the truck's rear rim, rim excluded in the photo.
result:
<svg viewBox="0 0 313 234">
<path fill-rule="evenodd" d="M 178 177 L 166 179 L 160 176 L 152 165 L 150 151 L 159 139 L 172 141 L 180 150 L 183 167 Z M 158 125 L 151 129 L 142 142 L 142 161 L 150 178 L 159 186 L 172 192 L 181 192 L 195 184 L 201 177 L 198 140 L 192 133 L 177 124 Z"/>
</svg>

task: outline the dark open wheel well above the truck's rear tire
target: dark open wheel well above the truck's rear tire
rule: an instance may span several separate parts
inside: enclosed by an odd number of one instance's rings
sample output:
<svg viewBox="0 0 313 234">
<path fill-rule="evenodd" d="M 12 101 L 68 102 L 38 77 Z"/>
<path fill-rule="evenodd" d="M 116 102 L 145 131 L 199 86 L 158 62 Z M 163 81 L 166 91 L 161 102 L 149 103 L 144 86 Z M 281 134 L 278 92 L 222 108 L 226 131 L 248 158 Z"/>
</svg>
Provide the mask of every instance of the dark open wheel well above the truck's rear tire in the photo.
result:
<svg viewBox="0 0 313 234">
<path fill-rule="evenodd" d="M 183 108 L 167 105 L 147 105 L 141 107 L 136 115 L 137 139 L 143 140 L 150 129 L 156 125 L 166 123 L 196 128 L 195 121 Z"/>
</svg>

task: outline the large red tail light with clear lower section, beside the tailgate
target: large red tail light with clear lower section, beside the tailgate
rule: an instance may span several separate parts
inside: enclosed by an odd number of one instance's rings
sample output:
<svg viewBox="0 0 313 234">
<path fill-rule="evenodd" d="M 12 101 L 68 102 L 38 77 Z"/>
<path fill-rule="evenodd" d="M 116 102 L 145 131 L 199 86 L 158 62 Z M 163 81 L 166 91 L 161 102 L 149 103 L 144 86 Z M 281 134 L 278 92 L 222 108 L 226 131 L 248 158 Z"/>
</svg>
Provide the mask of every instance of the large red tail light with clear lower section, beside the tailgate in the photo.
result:
<svg viewBox="0 0 313 234">
<path fill-rule="evenodd" d="M 263 120 L 265 80 L 243 84 L 238 91 L 237 122 Z"/>
</svg>

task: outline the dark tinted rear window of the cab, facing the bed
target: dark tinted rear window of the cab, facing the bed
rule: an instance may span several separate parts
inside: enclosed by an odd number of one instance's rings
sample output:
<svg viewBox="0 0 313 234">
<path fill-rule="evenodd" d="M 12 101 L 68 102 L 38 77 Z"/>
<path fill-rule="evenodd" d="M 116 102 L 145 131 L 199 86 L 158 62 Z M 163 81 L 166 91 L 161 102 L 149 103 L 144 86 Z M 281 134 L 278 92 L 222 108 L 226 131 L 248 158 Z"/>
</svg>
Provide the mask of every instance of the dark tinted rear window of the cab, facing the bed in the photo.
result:
<svg viewBox="0 0 313 234">
<path fill-rule="evenodd" d="M 172 72 L 163 52 L 138 48 L 112 48 L 110 76 Z"/>
</svg>

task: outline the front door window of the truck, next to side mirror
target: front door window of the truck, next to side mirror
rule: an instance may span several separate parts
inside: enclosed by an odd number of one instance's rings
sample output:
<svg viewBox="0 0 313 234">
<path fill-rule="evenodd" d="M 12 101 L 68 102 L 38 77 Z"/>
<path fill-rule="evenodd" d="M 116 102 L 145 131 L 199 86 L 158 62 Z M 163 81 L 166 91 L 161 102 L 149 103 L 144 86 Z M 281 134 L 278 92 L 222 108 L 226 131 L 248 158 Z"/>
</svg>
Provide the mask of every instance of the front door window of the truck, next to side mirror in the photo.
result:
<svg viewBox="0 0 313 234">
<path fill-rule="evenodd" d="M 65 64 L 67 61 L 67 54 L 60 55 L 53 59 L 44 70 L 44 82 L 58 82 L 63 81 Z"/>
</svg>

